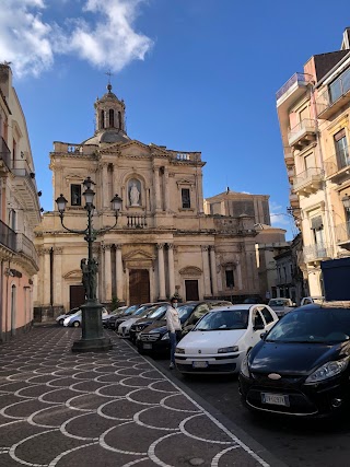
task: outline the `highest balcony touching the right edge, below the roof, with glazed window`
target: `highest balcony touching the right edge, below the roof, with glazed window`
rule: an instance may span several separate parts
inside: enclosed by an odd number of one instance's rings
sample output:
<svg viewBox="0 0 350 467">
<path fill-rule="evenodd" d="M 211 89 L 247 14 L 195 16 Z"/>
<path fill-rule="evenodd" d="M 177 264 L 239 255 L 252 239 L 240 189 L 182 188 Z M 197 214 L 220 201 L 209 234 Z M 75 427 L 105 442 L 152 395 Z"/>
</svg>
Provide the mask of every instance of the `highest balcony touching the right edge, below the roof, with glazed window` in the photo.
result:
<svg viewBox="0 0 350 467">
<path fill-rule="evenodd" d="M 350 102 L 350 68 L 345 70 L 316 100 L 318 118 L 328 119 Z"/>
</svg>

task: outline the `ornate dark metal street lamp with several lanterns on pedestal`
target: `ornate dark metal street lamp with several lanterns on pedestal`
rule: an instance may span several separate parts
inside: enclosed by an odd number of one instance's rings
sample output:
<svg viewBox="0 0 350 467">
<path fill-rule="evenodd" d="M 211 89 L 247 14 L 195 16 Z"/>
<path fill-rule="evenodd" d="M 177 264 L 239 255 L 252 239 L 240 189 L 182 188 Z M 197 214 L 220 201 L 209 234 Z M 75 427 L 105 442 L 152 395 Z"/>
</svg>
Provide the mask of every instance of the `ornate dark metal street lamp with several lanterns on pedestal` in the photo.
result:
<svg viewBox="0 0 350 467">
<path fill-rule="evenodd" d="M 88 212 L 88 226 L 84 230 L 73 230 L 69 229 L 63 224 L 63 217 L 66 211 L 67 199 L 63 195 L 60 195 L 57 199 L 57 208 L 59 211 L 59 217 L 61 220 L 61 225 L 68 232 L 83 234 L 84 240 L 88 242 L 88 262 L 86 258 L 83 258 L 80 262 L 82 270 L 82 282 L 85 290 L 85 303 L 81 306 L 82 310 L 82 337 L 80 340 L 73 342 L 72 351 L 73 352 L 94 352 L 112 349 L 112 341 L 109 338 L 104 337 L 103 326 L 102 326 L 102 304 L 98 302 L 96 296 L 96 273 L 98 269 L 98 264 L 92 254 L 92 246 L 96 236 L 110 231 L 117 225 L 118 214 L 121 209 L 122 199 L 115 195 L 110 200 L 113 210 L 115 211 L 116 220 L 115 224 L 95 231 L 93 229 L 92 215 L 95 209 L 94 207 L 94 196 L 95 191 L 92 189 L 92 186 L 95 185 L 94 182 L 88 177 L 83 182 L 85 191 L 83 197 L 85 199 L 85 210 Z"/>
</svg>

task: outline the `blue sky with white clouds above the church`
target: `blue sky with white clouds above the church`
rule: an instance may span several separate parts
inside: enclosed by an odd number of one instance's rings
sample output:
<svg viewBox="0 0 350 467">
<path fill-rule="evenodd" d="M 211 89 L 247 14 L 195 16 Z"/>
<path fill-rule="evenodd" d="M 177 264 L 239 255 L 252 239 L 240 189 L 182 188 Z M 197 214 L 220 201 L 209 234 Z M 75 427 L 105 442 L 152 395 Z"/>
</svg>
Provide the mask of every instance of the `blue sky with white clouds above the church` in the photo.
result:
<svg viewBox="0 0 350 467">
<path fill-rule="evenodd" d="M 349 3 L 278 0 L 1 0 L 0 61 L 11 62 L 38 188 L 54 209 L 49 152 L 94 132 L 94 101 L 127 105 L 129 137 L 201 151 L 203 194 L 270 195 L 295 234 L 276 92 L 315 54 L 338 50 Z"/>
</svg>

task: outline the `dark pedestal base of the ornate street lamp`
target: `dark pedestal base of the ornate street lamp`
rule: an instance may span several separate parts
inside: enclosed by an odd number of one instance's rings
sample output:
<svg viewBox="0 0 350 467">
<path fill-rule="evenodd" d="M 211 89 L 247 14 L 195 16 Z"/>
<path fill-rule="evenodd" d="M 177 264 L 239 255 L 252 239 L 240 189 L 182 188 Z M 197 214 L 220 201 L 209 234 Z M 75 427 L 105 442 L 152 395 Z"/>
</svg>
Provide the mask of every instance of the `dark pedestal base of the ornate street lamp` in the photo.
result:
<svg viewBox="0 0 350 467">
<path fill-rule="evenodd" d="M 103 332 L 102 308 L 97 300 L 88 300 L 81 306 L 81 339 L 73 342 L 72 352 L 106 352 L 113 348 L 110 339 Z"/>
</svg>

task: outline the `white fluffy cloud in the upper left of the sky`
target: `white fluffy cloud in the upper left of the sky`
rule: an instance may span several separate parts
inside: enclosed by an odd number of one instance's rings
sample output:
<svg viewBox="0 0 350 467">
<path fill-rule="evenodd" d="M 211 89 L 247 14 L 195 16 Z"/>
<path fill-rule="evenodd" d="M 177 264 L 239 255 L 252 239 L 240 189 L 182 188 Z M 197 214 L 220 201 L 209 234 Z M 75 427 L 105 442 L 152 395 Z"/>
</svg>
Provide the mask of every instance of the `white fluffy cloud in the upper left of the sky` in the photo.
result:
<svg viewBox="0 0 350 467">
<path fill-rule="evenodd" d="M 143 60 L 152 47 L 152 40 L 133 28 L 144 2 L 75 2 L 75 9 L 82 5 L 79 14 L 59 24 L 45 0 L 1 0 L 0 61 L 11 61 L 19 77 L 39 75 L 52 67 L 57 55 L 72 55 L 96 68 L 119 71 L 132 60 Z"/>
</svg>

